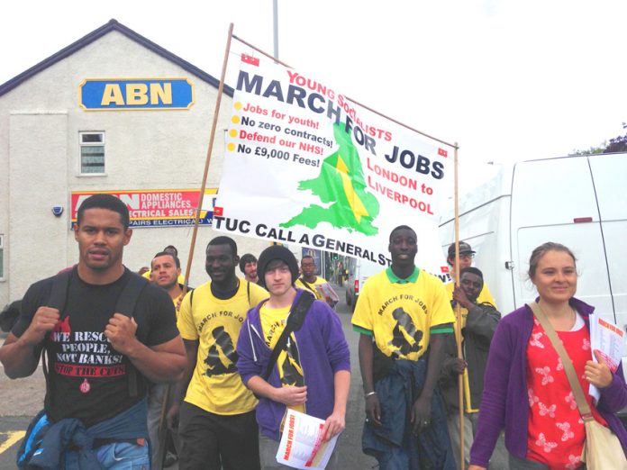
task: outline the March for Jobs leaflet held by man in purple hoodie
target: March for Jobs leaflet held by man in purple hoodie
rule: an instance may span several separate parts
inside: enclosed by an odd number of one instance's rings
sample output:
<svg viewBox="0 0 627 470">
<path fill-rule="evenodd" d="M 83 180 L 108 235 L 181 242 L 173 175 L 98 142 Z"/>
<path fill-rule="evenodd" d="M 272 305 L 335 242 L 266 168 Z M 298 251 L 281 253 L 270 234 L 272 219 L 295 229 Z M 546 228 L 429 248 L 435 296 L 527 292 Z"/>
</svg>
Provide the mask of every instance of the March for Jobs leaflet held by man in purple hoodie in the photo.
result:
<svg viewBox="0 0 627 470">
<path fill-rule="evenodd" d="M 288 409 L 277 462 L 301 469 L 322 470 L 326 467 L 338 436 L 324 442 L 323 427 L 324 420 Z"/>
</svg>

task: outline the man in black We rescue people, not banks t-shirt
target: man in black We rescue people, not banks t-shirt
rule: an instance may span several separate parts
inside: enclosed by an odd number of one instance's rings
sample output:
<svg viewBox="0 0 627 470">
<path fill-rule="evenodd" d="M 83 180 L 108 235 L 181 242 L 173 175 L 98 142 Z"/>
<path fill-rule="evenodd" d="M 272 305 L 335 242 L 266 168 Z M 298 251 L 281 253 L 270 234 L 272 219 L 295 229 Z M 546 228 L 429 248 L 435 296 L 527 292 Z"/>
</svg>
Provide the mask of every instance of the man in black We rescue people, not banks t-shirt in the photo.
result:
<svg viewBox="0 0 627 470">
<path fill-rule="evenodd" d="M 88 197 L 77 212 L 79 261 L 69 273 L 62 311 L 48 306 L 54 277 L 33 284 L 0 348 L 10 378 L 32 375 L 45 348 L 44 410 L 55 426 L 79 420 L 95 439 L 104 468 L 115 465 L 112 455 L 149 463 L 142 377 L 173 382 L 186 364 L 174 305 L 165 291 L 143 285 L 133 311 L 116 312 L 125 285 L 137 276 L 122 264 L 123 247 L 132 236 L 128 227 L 128 209 L 118 198 Z M 65 453 L 66 468 L 78 467 L 78 455 Z"/>
</svg>

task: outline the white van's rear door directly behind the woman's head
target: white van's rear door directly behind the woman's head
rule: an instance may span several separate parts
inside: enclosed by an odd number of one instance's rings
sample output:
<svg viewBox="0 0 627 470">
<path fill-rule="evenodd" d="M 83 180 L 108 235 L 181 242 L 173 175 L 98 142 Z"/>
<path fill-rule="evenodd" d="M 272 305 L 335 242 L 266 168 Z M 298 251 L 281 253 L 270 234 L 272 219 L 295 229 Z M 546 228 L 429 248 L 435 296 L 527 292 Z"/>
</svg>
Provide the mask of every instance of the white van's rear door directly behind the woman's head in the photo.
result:
<svg viewBox="0 0 627 470">
<path fill-rule="evenodd" d="M 566 245 L 577 258 L 577 298 L 612 312 L 604 240 L 587 158 L 527 161 L 514 169 L 512 255 L 517 307 L 536 291 L 527 271 L 532 250 L 547 241 Z"/>
</svg>

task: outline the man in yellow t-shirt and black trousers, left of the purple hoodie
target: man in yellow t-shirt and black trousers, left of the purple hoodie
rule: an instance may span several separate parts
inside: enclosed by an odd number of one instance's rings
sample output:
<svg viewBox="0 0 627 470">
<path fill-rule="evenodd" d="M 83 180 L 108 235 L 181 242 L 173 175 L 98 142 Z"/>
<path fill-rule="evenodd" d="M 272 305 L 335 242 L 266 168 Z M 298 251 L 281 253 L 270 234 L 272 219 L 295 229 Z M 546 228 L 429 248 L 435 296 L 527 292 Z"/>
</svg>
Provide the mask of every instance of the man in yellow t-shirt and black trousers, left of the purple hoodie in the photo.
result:
<svg viewBox="0 0 627 470">
<path fill-rule="evenodd" d="M 205 262 L 211 281 L 186 294 L 178 314 L 187 352 L 181 384 L 188 383 L 179 412 L 180 468 L 259 469 L 257 399 L 241 382 L 235 345 L 247 312 L 268 293 L 235 276 L 239 260 L 234 240 L 211 240 Z"/>
</svg>

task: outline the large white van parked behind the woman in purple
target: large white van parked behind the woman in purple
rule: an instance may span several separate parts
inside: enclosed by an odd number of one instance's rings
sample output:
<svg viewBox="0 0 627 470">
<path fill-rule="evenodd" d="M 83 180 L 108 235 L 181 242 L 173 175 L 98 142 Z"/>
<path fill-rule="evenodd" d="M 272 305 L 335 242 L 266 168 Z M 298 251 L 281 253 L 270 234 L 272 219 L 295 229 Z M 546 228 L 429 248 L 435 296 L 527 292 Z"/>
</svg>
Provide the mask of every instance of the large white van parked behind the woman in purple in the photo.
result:
<svg viewBox="0 0 627 470">
<path fill-rule="evenodd" d="M 442 249 L 455 240 L 441 223 Z M 546 241 L 577 257 L 577 297 L 627 330 L 627 154 L 530 160 L 503 167 L 459 199 L 459 240 L 504 314 L 532 301 L 532 250 Z"/>
</svg>

